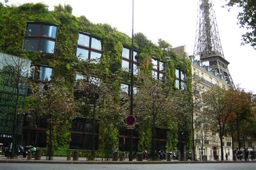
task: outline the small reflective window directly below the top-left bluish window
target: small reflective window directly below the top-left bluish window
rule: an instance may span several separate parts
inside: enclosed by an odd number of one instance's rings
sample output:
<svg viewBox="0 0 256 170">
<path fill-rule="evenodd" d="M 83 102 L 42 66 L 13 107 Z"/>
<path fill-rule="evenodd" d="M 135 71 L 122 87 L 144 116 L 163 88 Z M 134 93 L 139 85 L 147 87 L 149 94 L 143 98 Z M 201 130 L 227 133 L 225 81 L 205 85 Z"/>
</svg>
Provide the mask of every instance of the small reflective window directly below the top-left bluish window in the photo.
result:
<svg viewBox="0 0 256 170">
<path fill-rule="evenodd" d="M 49 66 L 33 66 L 31 67 L 31 79 L 37 81 L 49 82 L 52 79 L 53 68 Z"/>
</svg>

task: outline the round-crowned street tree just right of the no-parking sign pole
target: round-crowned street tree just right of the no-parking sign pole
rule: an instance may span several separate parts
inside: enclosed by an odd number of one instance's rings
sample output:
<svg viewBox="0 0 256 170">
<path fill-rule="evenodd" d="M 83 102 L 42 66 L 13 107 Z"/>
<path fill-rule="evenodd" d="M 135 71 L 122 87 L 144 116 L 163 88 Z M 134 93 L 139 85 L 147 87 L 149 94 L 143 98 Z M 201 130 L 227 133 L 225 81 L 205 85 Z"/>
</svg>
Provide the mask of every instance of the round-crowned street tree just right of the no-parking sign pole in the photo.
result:
<svg viewBox="0 0 256 170">
<path fill-rule="evenodd" d="M 140 88 L 134 95 L 134 112 L 151 128 L 151 159 L 155 159 L 156 128 L 166 128 L 173 118 L 173 89 L 168 82 L 140 75 Z M 143 125 L 143 123 L 141 124 Z"/>
</svg>

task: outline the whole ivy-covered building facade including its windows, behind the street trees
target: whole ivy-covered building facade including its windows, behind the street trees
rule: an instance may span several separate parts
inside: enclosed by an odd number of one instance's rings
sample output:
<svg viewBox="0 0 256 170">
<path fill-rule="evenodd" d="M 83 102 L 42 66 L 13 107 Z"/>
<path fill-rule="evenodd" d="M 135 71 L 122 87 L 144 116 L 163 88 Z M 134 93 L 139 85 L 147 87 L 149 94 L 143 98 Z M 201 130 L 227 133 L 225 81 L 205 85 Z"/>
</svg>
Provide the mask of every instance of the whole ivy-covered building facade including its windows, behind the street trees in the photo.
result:
<svg viewBox="0 0 256 170">
<path fill-rule="evenodd" d="M 112 81 L 112 91 L 117 101 L 122 101 L 120 93 L 130 94 L 130 72 L 133 65 L 134 80 L 141 74 L 153 76 L 156 79 L 167 79 L 173 89 L 190 90 L 191 64 L 189 60 L 178 60 L 183 57 L 173 51 L 153 44 L 143 33 L 134 35 L 133 63 L 131 60 L 131 38 L 117 31 L 108 24 L 92 24 L 85 16 L 75 17 L 69 5 L 56 6 L 54 11 L 49 11 L 45 4 L 27 3 L 21 6 L 4 6 L 0 3 L 0 52 L 20 56 L 31 61 L 30 80 L 41 84 L 49 83 L 57 77 L 64 77 L 63 86 L 68 87 L 72 97 L 77 98 L 76 89 L 78 80 L 83 79 L 91 67 L 87 67 L 88 60 L 91 65 L 103 65 L 104 73 L 120 75 Z M 171 56 L 166 61 L 166 56 Z M 185 68 L 185 70 L 184 70 Z M 122 71 L 120 71 L 122 70 Z M 112 76 L 111 78 L 114 78 Z M 104 80 L 104 77 L 91 76 L 92 81 Z M 105 81 L 111 81 L 106 79 Z M 186 86 L 184 88 L 184 86 Z M 134 91 L 139 89 L 135 84 Z M 2 100 L 2 94 L 1 94 Z M 2 107 L 2 105 L 1 105 Z M 83 104 L 79 105 L 78 116 L 69 120 L 70 127 L 66 132 L 71 140 L 70 149 L 92 149 L 92 116 Z M 2 111 L 2 109 L 0 109 Z M 0 114 L 3 115 L 3 112 Z M 127 115 L 127 114 L 126 114 Z M 2 116 L 1 116 L 2 117 Z M 125 115 L 124 118 L 125 119 Z M 138 120 L 139 121 L 139 120 Z M 103 143 L 105 126 L 96 120 L 95 150 L 99 150 Z M 26 118 L 19 131 L 22 134 L 24 145 L 46 146 L 45 131 L 47 124 L 43 118 L 36 120 L 37 126 L 31 127 Z M 125 124 L 125 123 L 124 123 Z M 0 126 L 5 126 L 3 123 Z M 22 129 L 21 129 L 22 127 Z M 113 143 L 119 150 L 128 151 L 128 132 L 123 126 L 111 126 L 109 136 L 113 136 Z M 1 129 L 1 128 L 0 128 Z M 179 127 L 157 129 L 156 149 L 165 151 L 166 145 L 170 150 L 176 151 L 179 136 Z M 136 126 L 133 132 L 133 150 L 149 150 L 149 130 L 140 132 Z M 183 129 L 185 130 L 185 129 Z M 1 133 L 5 133 L 4 131 Z M 56 132 L 58 133 L 58 132 Z M 188 147 L 191 139 L 186 131 Z M 142 135 L 143 134 L 143 135 Z M 58 134 L 56 134 L 58 136 Z M 183 140 L 183 137 L 180 137 Z M 185 140 L 185 138 L 184 138 Z M 66 141 L 57 146 L 66 146 Z"/>
</svg>

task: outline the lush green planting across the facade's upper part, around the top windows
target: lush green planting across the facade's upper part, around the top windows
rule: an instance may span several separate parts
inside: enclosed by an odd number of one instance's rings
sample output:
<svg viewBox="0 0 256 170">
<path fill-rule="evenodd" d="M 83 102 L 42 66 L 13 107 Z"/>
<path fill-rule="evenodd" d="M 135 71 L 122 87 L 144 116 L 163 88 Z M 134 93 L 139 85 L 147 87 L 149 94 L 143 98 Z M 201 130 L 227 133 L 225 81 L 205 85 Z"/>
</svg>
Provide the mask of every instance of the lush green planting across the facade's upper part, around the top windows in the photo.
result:
<svg viewBox="0 0 256 170">
<path fill-rule="evenodd" d="M 56 52 L 54 54 L 24 51 L 22 49 L 27 21 L 59 25 Z M 90 33 L 93 37 L 102 40 L 103 60 L 113 61 L 109 68 L 111 72 L 116 72 L 122 67 L 121 54 L 123 47 L 131 47 L 131 37 L 117 31 L 109 24 L 92 24 L 85 16 L 73 16 L 72 8 L 69 5 L 59 5 L 56 6 L 55 11 L 49 11 L 48 6 L 42 3 L 26 3 L 21 6 L 4 6 L 0 3 L 0 23 L 0 52 L 31 59 L 33 65 L 52 66 L 54 68 L 53 78 L 57 76 L 65 77 L 65 86 L 69 87 L 71 91 L 73 90 L 79 63 L 76 56 L 78 31 Z M 165 60 L 166 55 L 164 55 L 163 50 L 148 40 L 143 33 L 134 35 L 134 48 L 140 51 L 140 69 L 143 73 L 151 75 L 152 56 Z M 181 58 L 177 53 L 170 51 L 169 54 Z M 174 87 L 176 80 L 175 68 L 183 68 L 184 63 L 171 59 L 168 64 L 167 79 Z M 79 71 L 83 72 L 83 70 Z M 191 75 L 189 61 L 186 61 L 186 73 Z M 129 82 L 130 80 L 128 76 L 124 76 L 123 81 Z M 119 88 L 119 84 L 116 84 L 116 91 L 119 91 Z M 172 130 L 175 129 L 177 128 L 172 128 Z M 173 133 L 170 134 L 172 138 L 177 138 Z M 149 141 L 149 139 L 143 140 L 145 142 L 140 141 L 140 145 Z M 176 143 L 176 140 L 170 139 L 170 142 Z"/>
</svg>

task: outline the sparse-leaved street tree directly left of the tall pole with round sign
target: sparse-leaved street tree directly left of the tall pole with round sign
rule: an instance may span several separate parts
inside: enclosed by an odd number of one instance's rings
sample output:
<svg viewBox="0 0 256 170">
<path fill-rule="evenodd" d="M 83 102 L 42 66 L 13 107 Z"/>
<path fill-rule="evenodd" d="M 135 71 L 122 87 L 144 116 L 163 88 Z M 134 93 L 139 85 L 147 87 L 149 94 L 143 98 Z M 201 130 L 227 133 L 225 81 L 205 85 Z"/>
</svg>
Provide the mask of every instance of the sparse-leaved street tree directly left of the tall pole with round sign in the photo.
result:
<svg viewBox="0 0 256 170">
<path fill-rule="evenodd" d="M 81 60 L 79 61 L 79 72 L 77 73 L 75 96 L 80 104 L 82 115 L 92 119 L 92 159 L 95 159 L 95 123 L 96 119 L 102 122 L 99 108 L 106 103 L 106 96 L 113 90 L 118 75 L 110 72 L 111 62 L 103 60 Z M 115 94 L 112 94 L 116 96 Z M 110 102 L 110 101 L 109 101 Z M 111 104 L 115 104 L 113 101 Z M 110 105 L 112 108 L 112 105 Z M 118 108 L 118 107 L 117 107 Z M 106 122 L 105 122 L 106 123 Z"/>
</svg>

